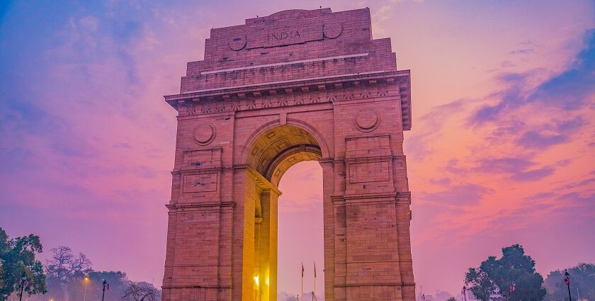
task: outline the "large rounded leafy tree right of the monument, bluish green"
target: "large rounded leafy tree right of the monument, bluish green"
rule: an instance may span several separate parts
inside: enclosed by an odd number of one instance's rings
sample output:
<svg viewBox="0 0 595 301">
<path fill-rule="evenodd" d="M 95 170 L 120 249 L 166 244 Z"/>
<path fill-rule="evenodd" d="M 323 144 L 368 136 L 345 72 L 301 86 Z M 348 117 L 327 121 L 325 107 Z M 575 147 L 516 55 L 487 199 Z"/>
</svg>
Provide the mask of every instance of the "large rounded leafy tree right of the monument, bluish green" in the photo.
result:
<svg viewBox="0 0 595 301">
<path fill-rule="evenodd" d="M 510 301 L 541 301 L 545 296 L 543 277 L 535 271 L 535 261 L 523 246 L 502 248 L 502 258 L 489 256 L 479 268 L 469 268 L 465 283 L 477 299 L 487 301 L 495 288 L 509 294 Z"/>
</svg>

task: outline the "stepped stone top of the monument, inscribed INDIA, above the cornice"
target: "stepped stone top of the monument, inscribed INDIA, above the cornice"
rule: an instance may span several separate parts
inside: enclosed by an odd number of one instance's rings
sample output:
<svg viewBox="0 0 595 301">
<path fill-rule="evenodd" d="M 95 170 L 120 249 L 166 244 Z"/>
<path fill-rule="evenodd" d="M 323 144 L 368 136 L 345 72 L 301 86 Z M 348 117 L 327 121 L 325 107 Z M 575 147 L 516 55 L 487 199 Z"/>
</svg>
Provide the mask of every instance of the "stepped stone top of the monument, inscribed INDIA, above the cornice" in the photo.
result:
<svg viewBox="0 0 595 301">
<path fill-rule="evenodd" d="M 181 93 L 397 72 L 390 39 L 373 40 L 368 8 L 288 10 L 213 28 Z"/>
</svg>

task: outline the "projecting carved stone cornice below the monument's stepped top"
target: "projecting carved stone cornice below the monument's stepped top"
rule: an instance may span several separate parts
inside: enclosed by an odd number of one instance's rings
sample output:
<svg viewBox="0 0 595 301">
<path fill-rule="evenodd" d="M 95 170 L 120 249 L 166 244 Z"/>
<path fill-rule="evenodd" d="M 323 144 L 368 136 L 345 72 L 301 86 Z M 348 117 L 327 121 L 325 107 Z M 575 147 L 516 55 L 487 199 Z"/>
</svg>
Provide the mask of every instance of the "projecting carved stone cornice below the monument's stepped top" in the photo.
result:
<svg viewBox="0 0 595 301">
<path fill-rule="evenodd" d="M 207 89 L 165 96 L 179 112 L 179 118 L 203 114 L 234 113 L 285 106 L 337 103 L 372 98 L 400 99 L 404 130 L 410 127 L 409 70 L 351 74 L 331 79 L 254 86 Z"/>
</svg>

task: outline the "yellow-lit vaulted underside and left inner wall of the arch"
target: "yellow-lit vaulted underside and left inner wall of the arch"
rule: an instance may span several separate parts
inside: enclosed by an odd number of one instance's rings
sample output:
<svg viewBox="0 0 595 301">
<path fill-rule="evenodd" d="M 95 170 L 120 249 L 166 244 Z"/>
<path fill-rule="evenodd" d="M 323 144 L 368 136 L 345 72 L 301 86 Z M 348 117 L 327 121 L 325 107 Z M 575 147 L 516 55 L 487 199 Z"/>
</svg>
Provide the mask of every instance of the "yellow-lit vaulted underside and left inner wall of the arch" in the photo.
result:
<svg viewBox="0 0 595 301">
<path fill-rule="evenodd" d="M 252 280 L 252 291 L 244 288 L 244 296 L 251 295 L 251 300 L 277 300 L 280 180 L 295 164 L 317 161 L 322 154 L 314 135 L 296 125 L 264 130 L 247 149 L 246 164 L 251 170 L 248 176 L 254 181 L 254 189 L 247 190 L 246 203 L 253 205 L 254 211 L 244 211 L 244 218 L 254 224 L 246 225 L 253 230 L 249 234 L 253 243 L 244 241 L 243 278 Z"/>
</svg>

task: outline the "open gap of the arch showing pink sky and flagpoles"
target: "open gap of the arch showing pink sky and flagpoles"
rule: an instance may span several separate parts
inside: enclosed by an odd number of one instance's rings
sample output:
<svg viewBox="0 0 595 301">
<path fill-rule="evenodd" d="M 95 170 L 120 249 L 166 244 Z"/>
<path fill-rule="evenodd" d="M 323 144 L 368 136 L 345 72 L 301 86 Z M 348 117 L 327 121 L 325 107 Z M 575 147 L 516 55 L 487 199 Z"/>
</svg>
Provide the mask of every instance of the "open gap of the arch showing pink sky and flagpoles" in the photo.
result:
<svg viewBox="0 0 595 301">
<path fill-rule="evenodd" d="M 283 175 L 278 205 L 278 300 L 324 296 L 324 203 L 322 166 L 302 161 Z M 304 264 L 303 292 L 300 283 Z M 314 263 L 317 278 L 314 278 Z"/>
</svg>

